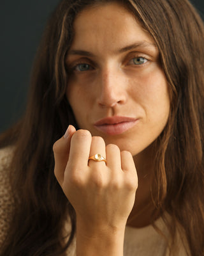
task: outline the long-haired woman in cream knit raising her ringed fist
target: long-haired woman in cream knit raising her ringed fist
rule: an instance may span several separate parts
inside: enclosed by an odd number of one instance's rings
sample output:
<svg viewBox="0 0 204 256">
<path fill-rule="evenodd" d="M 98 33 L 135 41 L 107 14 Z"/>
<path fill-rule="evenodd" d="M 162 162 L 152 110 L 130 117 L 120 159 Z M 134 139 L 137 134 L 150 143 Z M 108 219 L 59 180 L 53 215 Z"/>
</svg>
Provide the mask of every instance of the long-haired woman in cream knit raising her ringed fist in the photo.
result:
<svg viewBox="0 0 204 256">
<path fill-rule="evenodd" d="M 1 136 L 2 255 L 203 255 L 203 38 L 186 0 L 59 4 Z"/>
</svg>

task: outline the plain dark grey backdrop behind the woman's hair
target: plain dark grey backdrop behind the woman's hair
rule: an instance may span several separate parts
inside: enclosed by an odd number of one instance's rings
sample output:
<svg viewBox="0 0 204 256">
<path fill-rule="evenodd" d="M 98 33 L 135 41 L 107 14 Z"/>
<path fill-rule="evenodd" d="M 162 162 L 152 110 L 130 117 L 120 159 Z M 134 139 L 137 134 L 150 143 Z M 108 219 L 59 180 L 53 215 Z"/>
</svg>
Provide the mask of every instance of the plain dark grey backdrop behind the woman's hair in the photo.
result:
<svg viewBox="0 0 204 256">
<path fill-rule="evenodd" d="M 25 108 L 33 58 L 48 16 L 59 0 L 1 0 L 0 132 Z M 204 18 L 204 0 L 192 0 Z"/>
</svg>

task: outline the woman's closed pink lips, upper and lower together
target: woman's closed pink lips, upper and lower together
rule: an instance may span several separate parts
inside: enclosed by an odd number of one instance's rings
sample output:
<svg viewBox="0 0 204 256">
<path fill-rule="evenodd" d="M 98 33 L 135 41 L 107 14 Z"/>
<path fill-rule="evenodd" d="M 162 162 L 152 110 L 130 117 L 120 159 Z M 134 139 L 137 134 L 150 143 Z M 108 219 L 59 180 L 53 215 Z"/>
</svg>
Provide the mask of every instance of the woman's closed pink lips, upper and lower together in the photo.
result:
<svg viewBox="0 0 204 256">
<path fill-rule="evenodd" d="M 131 118 L 128 116 L 111 116 L 98 120 L 94 124 L 94 127 L 105 134 L 117 135 L 128 131 L 137 122 L 137 118 Z"/>
</svg>

